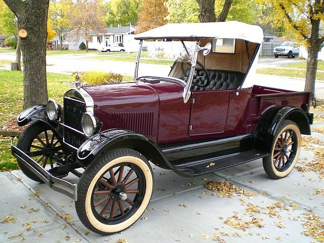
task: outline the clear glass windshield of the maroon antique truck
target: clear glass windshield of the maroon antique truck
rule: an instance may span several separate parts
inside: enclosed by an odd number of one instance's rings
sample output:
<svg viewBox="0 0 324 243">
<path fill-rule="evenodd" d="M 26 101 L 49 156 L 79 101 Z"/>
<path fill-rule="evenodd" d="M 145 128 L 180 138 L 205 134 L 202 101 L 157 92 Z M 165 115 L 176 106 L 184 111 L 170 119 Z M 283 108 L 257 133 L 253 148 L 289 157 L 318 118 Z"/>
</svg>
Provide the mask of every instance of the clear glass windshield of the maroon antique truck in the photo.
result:
<svg viewBox="0 0 324 243">
<path fill-rule="evenodd" d="M 195 46 L 195 41 L 143 41 L 137 77 L 175 77 L 184 80 L 188 74 L 186 72 L 190 72 Z"/>
</svg>

